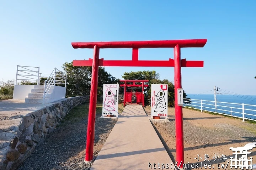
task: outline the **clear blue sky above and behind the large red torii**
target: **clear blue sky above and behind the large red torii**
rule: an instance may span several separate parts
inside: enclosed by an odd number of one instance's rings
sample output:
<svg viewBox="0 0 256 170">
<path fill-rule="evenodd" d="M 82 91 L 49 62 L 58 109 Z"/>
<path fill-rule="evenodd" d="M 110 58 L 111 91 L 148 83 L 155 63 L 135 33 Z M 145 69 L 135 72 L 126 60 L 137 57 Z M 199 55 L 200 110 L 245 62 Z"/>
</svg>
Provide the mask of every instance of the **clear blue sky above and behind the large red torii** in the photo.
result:
<svg viewBox="0 0 256 170">
<path fill-rule="evenodd" d="M 182 68 L 188 94 L 213 86 L 256 95 L 256 1 L 1 1 L 0 80 L 16 78 L 16 66 L 40 66 L 41 73 L 64 62 L 88 60 L 92 49 L 71 42 L 207 39 L 203 48 L 181 49 L 181 58 L 204 61 Z M 169 60 L 173 49 L 140 49 L 139 60 Z M 105 60 L 131 60 L 131 49 L 101 49 Z M 174 68 L 106 67 L 124 72 L 156 70 L 174 80 Z M 212 93 L 208 92 L 208 93 Z"/>
</svg>

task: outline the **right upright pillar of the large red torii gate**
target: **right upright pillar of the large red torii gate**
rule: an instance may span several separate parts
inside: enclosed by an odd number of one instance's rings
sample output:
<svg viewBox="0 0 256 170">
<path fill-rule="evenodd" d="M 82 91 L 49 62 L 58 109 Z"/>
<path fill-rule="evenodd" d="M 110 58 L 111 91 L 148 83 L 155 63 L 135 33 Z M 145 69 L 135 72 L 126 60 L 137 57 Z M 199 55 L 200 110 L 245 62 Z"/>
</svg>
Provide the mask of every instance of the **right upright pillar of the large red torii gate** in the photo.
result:
<svg viewBox="0 0 256 170">
<path fill-rule="evenodd" d="M 184 163 L 184 144 L 183 144 L 183 120 L 182 106 L 178 106 L 177 89 L 181 87 L 181 56 L 180 45 L 174 48 L 174 89 L 175 89 L 175 128 L 176 128 L 176 161 L 178 165 Z"/>
</svg>

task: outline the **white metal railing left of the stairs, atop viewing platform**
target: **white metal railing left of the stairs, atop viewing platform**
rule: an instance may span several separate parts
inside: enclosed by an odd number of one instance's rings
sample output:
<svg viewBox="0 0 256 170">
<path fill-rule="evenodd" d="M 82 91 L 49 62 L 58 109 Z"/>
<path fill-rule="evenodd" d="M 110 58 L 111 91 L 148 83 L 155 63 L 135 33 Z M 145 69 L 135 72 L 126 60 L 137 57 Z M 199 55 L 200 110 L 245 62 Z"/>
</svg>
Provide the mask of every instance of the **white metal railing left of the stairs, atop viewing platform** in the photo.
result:
<svg viewBox="0 0 256 170">
<path fill-rule="evenodd" d="M 39 67 L 17 65 L 16 84 L 18 80 L 28 81 L 31 83 L 37 82 L 37 85 L 39 85 Z"/>
</svg>

